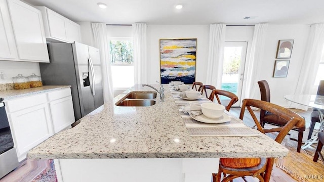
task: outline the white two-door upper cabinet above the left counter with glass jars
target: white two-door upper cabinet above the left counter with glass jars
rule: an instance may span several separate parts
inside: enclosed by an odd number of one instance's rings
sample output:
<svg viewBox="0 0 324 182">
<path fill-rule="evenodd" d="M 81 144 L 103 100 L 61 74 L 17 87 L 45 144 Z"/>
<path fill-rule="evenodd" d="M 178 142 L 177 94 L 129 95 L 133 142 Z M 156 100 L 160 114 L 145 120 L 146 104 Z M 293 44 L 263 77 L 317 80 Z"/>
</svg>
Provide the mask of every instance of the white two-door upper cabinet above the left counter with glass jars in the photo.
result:
<svg viewBox="0 0 324 182">
<path fill-rule="evenodd" d="M 0 10 L 0 60 L 49 62 L 42 13 L 19 0 Z"/>
</svg>

